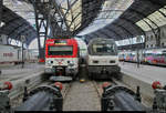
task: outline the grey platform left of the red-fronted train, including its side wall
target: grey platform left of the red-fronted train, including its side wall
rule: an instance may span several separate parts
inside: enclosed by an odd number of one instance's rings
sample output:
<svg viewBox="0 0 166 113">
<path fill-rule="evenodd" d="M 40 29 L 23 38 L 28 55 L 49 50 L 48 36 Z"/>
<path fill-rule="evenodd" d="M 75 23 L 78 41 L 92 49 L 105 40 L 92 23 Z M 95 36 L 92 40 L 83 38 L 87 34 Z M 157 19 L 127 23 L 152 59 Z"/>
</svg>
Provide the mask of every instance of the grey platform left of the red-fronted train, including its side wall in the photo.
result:
<svg viewBox="0 0 166 113">
<path fill-rule="evenodd" d="M 19 64 L 3 66 L 0 70 L 0 85 L 6 81 L 10 81 L 13 85 L 10 96 L 14 97 L 23 92 L 24 86 L 30 89 L 42 81 L 44 64 L 25 63 L 23 68 Z"/>
</svg>

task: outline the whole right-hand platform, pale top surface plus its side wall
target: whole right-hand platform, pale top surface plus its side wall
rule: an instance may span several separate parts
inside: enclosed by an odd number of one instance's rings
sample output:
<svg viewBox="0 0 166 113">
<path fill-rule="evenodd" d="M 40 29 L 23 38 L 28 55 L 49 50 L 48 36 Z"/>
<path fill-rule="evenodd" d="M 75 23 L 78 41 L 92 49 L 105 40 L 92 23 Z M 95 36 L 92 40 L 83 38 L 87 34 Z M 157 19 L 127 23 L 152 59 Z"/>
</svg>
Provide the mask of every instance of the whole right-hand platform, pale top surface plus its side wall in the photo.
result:
<svg viewBox="0 0 166 113">
<path fill-rule="evenodd" d="M 128 62 L 121 62 L 120 66 L 123 82 L 133 90 L 136 90 L 136 86 L 141 86 L 141 93 L 148 101 L 152 101 L 154 96 L 154 90 L 152 89 L 154 81 L 159 81 L 163 85 L 166 85 L 166 68 L 145 64 L 141 64 L 137 68 L 136 63 Z"/>
</svg>

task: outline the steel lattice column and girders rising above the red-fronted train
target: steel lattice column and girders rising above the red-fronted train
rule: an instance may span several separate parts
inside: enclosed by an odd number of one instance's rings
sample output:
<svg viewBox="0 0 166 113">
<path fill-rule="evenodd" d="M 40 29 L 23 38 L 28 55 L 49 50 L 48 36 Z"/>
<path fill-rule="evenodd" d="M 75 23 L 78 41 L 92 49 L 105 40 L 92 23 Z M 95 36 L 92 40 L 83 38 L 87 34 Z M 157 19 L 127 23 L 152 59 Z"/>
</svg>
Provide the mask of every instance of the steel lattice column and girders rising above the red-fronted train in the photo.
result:
<svg viewBox="0 0 166 113">
<path fill-rule="evenodd" d="M 71 35 L 66 23 L 66 13 L 63 13 L 61 6 L 55 0 L 32 0 L 35 12 L 35 24 L 38 31 L 38 47 L 40 58 L 44 58 L 45 40 L 48 37 L 58 38 L 59 35 Z M 70 4 L 68 4 L 70 6 Z M 66 30 L 63 29 L 65 24 Z M 44 28 L 44 30 L 42 30 Z M 50 34 L 49 34 L 50 30 Z M 44 47 L 41 48 L 40 39 L 44 38 Z"/>
</svg>

